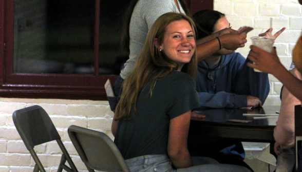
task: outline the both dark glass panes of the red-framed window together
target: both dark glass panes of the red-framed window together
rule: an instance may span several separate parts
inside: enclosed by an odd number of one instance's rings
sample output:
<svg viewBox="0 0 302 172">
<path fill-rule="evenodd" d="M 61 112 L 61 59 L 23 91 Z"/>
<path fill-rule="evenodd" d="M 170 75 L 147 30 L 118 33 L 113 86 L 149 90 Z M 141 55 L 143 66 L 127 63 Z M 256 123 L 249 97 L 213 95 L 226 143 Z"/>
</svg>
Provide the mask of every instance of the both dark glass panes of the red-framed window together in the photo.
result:
<svg viewBox="0 0 302 172">
<path fill-rule="evenodd" d="M 101 1 L 97 37 L 96 1 L 14 1 L 13 72 L 93 75 L 99 38 L 99 73 L 118 75 L 127 2 Z"/>
</svg>

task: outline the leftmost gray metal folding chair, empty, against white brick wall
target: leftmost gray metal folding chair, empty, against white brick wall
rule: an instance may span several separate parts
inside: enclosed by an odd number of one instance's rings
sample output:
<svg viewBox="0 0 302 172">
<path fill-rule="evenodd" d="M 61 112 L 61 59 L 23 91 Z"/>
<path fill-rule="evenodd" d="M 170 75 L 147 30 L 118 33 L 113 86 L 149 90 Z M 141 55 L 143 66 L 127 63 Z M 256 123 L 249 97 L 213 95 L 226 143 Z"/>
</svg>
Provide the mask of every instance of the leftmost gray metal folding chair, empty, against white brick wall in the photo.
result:
<svg viewBox="0 0 302 172">
<path fill-rule="evenodd" d="M 39 157 L 37 157 L 33 149 L 34 146 L 53 140 L 59 144 L 63 153 L 58 171 L 61 172 L 65 169 L 68 172 L 78 172 L 61 141 L 58 131 L 56 131 L 50 117 L 41 106 L 33 105 L 17 110 L 13 112 L 12 118 L 18 133 L 35 162 L 34 172 L 39 170 L 45 172 Z M 66 160 L 70 167 L 65 165 Z"/>
</svg>

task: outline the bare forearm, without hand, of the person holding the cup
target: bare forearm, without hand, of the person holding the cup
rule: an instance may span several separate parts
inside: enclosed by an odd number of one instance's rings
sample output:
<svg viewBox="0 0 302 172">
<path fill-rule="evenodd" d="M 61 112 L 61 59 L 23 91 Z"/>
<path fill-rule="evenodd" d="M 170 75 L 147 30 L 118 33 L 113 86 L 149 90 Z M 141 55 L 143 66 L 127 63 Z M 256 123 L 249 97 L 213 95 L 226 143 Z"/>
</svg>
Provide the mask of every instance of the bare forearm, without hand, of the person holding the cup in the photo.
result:
<svg viewBox="0 0 302 172">
<path fill-rule="evenodd" d="M 302 101 L 302 81 L 292 75 L 284 66 L 278 66 L 272 73 L 297 99 Z"/>
</svg>

